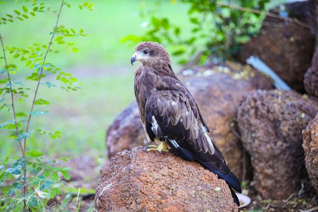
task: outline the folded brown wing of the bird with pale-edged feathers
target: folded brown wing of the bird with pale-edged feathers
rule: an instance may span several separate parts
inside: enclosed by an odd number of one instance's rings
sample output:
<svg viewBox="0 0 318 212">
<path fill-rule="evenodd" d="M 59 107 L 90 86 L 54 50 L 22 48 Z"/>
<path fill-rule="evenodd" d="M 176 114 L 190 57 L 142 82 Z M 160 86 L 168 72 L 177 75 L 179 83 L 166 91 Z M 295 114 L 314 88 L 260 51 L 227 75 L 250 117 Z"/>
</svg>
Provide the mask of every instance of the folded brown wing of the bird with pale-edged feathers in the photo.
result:
<svg viewBox="0 0 318 212">
<path fill-rule="evenodd" d="M 189 93 L 175 90 L 157 90 L 146 102 L 146 131 L 149 137 L 167 141 L 174 152 L 185 160 L 196 160 L 235 190 L 240 184 L 230 171 L 224 156 L 211 141 L 201 122 L 197 104 L 189 101 Z M 198 114 L 198 115 L 196 115 Z"/>
</svg>

